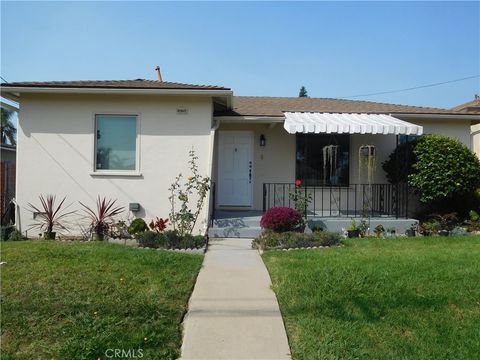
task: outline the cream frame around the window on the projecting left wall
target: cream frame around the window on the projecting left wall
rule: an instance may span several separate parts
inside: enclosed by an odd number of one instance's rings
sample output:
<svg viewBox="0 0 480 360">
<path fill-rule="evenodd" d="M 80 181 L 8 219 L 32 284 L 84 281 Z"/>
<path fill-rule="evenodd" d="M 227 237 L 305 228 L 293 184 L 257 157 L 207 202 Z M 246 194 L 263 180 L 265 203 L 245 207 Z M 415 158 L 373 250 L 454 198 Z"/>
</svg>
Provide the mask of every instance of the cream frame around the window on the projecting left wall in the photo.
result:
<svg viewBox="0 0 480 360">
<path fill-rule="evenodd" d="M 136 135 L 135 135 L 135 169 L 134 170 L 103 170 L 97 169 L 97 117 L 98 116 L 125 116 L 135 117 L 136 121 Z M 90 175 L 92 176 L 142 176 L 140 172 L 140 122 L 141 116 L 138 113 L 131 112 L 113 112 L 113 111 L 99 111 L 93 114 L 93 169 Z"/>
</svg>

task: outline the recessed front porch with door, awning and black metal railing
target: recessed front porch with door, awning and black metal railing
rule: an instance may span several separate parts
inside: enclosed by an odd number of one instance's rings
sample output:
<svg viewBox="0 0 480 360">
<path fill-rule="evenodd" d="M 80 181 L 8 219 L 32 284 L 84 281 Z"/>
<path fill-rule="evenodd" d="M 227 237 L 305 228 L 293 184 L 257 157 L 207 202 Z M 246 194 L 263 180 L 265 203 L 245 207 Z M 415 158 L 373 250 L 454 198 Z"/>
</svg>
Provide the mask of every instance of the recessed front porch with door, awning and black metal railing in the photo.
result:
<svg viewBox="0 0 480 360">
<path fill-rule="evenodd" d="M 311 198 L 303 211 L 309 221 L 320 222 L 326 230 L 348 228 L 352 217 L 395 227 L 400 233 L 414 222 L 409 219 L 415 204 L 407 185 L 388 183 L 381 164 L 402 140 L 421 135 L 421 126 L 388 115 L 284 115 L 219 123 L 211 236 L 257 236 L 265 211 L 295 207 L 294 191 Z M 368 161 L 360 151 L 363 148 L 368 149 Z M 407 162 L 408 158 L 397 164 L 397 178 L 406 171 Z"/>
</svg>

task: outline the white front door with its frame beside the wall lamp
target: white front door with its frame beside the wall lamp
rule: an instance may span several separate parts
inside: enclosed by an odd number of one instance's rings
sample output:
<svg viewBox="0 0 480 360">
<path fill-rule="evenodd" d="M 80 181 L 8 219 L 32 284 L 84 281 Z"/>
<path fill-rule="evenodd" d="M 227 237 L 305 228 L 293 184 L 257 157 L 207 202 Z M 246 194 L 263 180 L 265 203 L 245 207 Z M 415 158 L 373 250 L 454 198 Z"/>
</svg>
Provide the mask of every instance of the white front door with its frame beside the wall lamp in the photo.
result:
<svg viewBox="0 0 480 360">
<path fill-rule="evenodd" d="M 252 206 L 252 161 L 251 131 L 219 131 L 219 206 Z"/>
</svg>

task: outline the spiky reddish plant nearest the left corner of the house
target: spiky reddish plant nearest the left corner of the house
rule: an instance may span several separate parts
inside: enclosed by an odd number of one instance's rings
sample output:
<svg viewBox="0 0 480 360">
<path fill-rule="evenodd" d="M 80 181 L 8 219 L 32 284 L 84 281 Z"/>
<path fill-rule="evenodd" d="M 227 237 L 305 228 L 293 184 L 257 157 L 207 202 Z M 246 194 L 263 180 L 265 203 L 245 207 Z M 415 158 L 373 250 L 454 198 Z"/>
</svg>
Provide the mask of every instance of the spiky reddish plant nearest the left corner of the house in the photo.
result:
<svg viewBox="0 0 480 360">
<path fill-rule="evenodd" d="M 55 195 L 40 195 L 41 206 L 37 207 L 28 203 L 29 210 L 33 213 L 35 223 L 30 229 L 37 228 L 43 231 L 43 237 L 47 240 L 55 240 L 57 235 L 55 230 L 66 230 L 65 219 L 75 213 L 75 211 L 64 212 L 63 204 L 67 197 L 64 197 L 58 205 L 56 205 Z M 67 206 L 68 207 L 68 206 Z"/>
</svg>

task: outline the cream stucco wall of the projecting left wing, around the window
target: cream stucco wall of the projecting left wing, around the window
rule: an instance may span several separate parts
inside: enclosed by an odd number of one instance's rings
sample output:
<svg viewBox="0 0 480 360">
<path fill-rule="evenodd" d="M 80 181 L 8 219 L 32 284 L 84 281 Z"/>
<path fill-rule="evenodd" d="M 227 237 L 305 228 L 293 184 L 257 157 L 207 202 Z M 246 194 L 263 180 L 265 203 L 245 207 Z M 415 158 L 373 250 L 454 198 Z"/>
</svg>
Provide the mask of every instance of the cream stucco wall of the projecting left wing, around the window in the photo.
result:
<svg viewBox="0 0 480 360">
<path fill-rule="evenodd" d="M 209 97 L 131 95 L 22 95 L 18 123 L 17 200 L 22 231 L 32 223 L 27 204 L 40 194 L 67 196 L 71 209 L 78 201 L 95 205 L 97 196 L 117 199 L 126 207 L 121 218 L 132 219 L 128 204 L 140 203 L 136 214 L 147 222 L 168 217 L 168 187 L 178 173 L 186 176 L 188 151 L 199 157 L 201 174 L 211 172 L 212 100 Z M 177 115 L 187 108 L 187 115 Z M 136 114 L 139 121 L 139 177 L 94 176 L 94 116 Z M 196 232 L 205 228 L 204 207 Z M 78 233 L 80 217 L 72 219 Z M 30 231 L 35 236 L 38 231 Z"/>
</svg>

